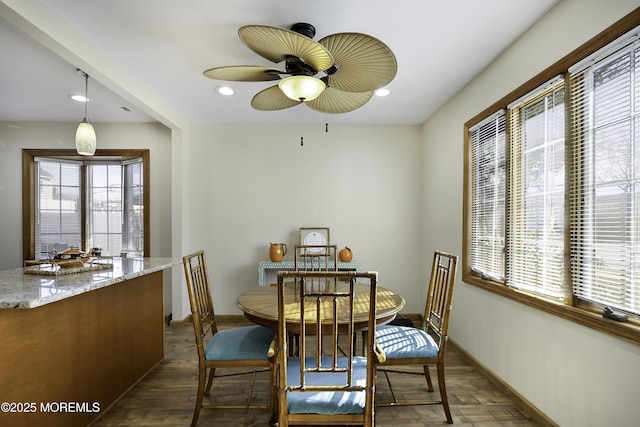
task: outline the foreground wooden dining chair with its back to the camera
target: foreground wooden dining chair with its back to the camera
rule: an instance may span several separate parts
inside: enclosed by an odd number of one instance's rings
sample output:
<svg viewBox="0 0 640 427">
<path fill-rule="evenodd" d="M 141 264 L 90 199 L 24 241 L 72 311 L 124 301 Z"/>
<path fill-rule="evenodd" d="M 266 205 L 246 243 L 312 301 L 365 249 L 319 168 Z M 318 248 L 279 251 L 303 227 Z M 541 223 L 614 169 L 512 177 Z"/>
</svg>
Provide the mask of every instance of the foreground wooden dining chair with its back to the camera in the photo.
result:
<svg viewBox="0 0 640 427">
<path fill-rule="evenodd" d="M 369 328 L 376 322 L 376 272 L 278 272 L 278 333 L 272 350 L 278 368 L 278 426 L 374 425 L 375 364 L 383 359 L 375 336 L 365 344 L 366 356 L 338 350 L 338 335 L 353 338 L 356 280 L 369 286 Z M 318 326 L 320 325 L 320 327 Z M 291 356 L 287 337 L 301 337 L 299 355 Z M 349 343 L 354 340 L 350 339 Z"/>
</svg>

